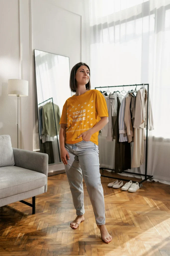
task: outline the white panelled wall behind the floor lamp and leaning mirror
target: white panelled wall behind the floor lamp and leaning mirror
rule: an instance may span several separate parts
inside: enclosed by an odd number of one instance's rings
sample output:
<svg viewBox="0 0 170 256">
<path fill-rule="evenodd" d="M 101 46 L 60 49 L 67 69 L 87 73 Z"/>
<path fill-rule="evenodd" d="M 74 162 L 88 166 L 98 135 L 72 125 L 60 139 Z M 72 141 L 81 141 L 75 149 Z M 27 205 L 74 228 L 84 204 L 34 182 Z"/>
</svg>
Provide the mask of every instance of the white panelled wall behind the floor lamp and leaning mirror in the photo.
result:
<svg viewBox="0 0 170 256">
<path fill-rule="evenodd" d="M 70 57 L 70 69 L 88 63 L 88 1 L 0 0 L 0 22 L 0 135 L 17 147 L 17 97 L 7 95 L 7 82 L 28 80 L 29 96 L 19 99 L 19 148 L 33 150 L 33 49 Z"/>
</svg>

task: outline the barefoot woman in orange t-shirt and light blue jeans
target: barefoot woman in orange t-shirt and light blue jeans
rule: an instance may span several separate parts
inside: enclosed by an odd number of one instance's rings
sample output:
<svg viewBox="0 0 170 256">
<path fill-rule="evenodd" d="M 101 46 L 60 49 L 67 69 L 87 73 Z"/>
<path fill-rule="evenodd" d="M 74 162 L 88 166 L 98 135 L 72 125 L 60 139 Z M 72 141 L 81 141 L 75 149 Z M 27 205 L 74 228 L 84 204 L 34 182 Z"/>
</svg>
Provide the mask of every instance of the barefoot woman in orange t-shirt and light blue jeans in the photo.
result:
<svg viewBox="0 0 170 256">
<path fill-rule="evenodd" d="M 77 215 L 70 226 L 76 229 L 84 221 L 84 178 L 101 238 L 109 243 L 112 237 L 105 226 L 98 156 L 98 132 L 108 123 L 108 110 L 103 95 L 90 88 L 90 69 L 80 62 L 70 74 L 70 89 L 75 95 L 66 100 L 62 110 L 60 154 Z"/>
</svg>

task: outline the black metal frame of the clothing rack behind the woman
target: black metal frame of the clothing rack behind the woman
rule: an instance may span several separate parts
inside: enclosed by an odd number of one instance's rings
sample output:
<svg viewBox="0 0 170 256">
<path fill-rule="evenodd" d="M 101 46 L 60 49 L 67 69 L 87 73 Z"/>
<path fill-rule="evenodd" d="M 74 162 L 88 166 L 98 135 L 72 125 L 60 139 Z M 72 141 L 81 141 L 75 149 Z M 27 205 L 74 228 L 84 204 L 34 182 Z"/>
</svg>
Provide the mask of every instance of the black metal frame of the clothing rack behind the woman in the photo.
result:
<svg viewBox="0 0 170 256">
<path fill-rule="evenodd" d="M 152 175 L 148 175 L 147 174 L 147 164 L 148 164 L 148 113 L 149 113 L 149 83 L 146 83 L 146 84 L 129 84 L 129 85 L 118 85 L 118 86 L 104 86 L 104 87 L 95 87 L 95 89 L 97 88 L 114 88 L 114 87 L 130 87 L 130 86 L 133 86 L 133 87 L 137 87 L 137 86 L 147 86 L 147 125 L 146 125 L 146 157 L 145 157 L 145 174 L 139 174 L 139 173 L 133 173 L 133 172 L 126 172 L 126 171 L 123 171 L 122 173 L 128 173 L 128 174 L 134 174 L 134 175 L 140 175 L 140 176 L 145 176 L 145 179 L 141 180 L 139 182 L 139 186 L 141 187 L 142 186 L 142 182 L 148 180 L 148 179 L 152 179 Z M 103 168 L 101 167 L 100 168 L 102 170 L 102 173 L 103 173 L 103 170 L 114 170 L 114 169 L 109 169 L 109 168 Z M 107 177 L 107 178 L 112 178 L 112 179 L 118 179 L 118 180 L 123 180 L 123 181 L 130 181 L 129 179 L 123 179 L 123 178 L 115 178 L 115 177 L 111 177 L 111 176 L 107 176 L 107 175 L 101 175 L 102 177 Z M 135 183 L 135 181 L 133 181 Z"/>
</svg>

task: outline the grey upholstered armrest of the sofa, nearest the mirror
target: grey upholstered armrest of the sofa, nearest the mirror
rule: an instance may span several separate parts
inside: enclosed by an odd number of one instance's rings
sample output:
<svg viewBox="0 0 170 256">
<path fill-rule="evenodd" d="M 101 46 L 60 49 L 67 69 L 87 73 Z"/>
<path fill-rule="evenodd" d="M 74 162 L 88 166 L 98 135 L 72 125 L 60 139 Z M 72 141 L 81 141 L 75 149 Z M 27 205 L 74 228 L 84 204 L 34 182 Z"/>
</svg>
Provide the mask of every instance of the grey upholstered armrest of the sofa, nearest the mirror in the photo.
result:
<svg viewBox="0 0 170 256">
<path fill-rule="evenodd" d="M 44 173 L 48 176 L 48 155 L 18 148 L 12 148 L 14 152 L 15 166 Z M 44 187 L 47 192 L 47 183 Z"/>
</svg>

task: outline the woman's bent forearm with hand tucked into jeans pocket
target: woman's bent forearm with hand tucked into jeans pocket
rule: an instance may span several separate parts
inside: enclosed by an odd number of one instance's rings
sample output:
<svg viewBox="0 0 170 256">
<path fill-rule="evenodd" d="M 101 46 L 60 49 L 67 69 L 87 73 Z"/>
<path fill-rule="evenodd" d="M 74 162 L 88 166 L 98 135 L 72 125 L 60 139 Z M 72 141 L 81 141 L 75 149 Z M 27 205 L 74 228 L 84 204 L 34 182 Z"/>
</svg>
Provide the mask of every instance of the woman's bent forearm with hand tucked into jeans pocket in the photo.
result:
<svg viewBox="0 0 170 256">
<path fill-rule="evenodd" d="M 95 132 L 100 131 L 108 122 L 109 118 L 107 116 L 102 116 L 101 120 L 93 128 L 89 129 L 86 132 L 83 132 L 81 135 L 78 136 L 78 138 L 82 137 L 84 141 L 89 141 L 91 135 Z"/>
</svg>

